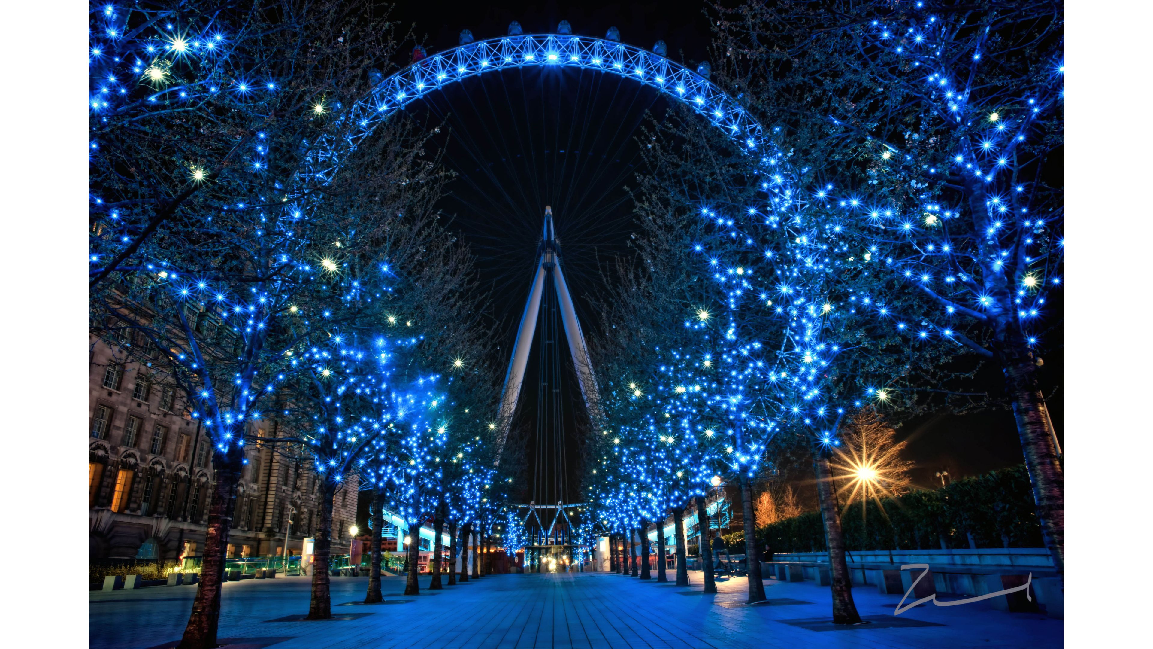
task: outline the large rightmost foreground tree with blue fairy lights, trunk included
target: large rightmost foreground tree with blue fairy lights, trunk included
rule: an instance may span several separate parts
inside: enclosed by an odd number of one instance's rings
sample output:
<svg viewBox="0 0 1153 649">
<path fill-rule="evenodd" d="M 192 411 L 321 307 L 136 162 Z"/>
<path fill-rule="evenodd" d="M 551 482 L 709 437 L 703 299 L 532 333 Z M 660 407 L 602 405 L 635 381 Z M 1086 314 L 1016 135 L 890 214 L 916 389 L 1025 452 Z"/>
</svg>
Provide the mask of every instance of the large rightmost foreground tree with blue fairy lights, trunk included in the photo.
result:
<svg viewBox="0 0 1153 649">
<path fill-rule="evenodd" d="M 718 83 L 741 88 L 796 157 L 821 161 L 802 178 L 808 199 L 844 225 L 841 256 L 874 277 L 858 315 L 909 349 L 963 351 L 1001 371 L 996 401 L 1012 409 L 1045 544 L 1063 572 L 1061 450 L 1041 391 L 1042 357 L 1062 344 L 1062 6 L 716 12 L 716 47 L 732 54 Z M 910 296 L 927 306 L 903 308 Z M 896 396 L 874 387 L 874 403 Z"/>
</svg>

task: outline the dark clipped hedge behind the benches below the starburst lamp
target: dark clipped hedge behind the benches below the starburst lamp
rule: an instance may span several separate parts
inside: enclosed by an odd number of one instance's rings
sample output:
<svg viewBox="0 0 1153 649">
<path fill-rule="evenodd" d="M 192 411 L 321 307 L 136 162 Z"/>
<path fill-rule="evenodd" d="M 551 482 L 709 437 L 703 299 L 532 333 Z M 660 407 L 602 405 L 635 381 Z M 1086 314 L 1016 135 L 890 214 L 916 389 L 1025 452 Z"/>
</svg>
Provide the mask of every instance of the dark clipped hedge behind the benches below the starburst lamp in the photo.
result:
<svg viewBox="0 0 1153 649">
<path fill-rule="evenodd" d="M 850 551 L 1043 546 L 1024 464 L 887 498 L 880 507 L 869 501 L 864 517 L 861 507 L 853 502 L 841 508 Z M 724 538 L 726 544 L 743 543 L 744 536 Z M 756 536 L 761 547 L 774 553 L 826 550 L 820 512 L 758 528 Z"/>
</svg>

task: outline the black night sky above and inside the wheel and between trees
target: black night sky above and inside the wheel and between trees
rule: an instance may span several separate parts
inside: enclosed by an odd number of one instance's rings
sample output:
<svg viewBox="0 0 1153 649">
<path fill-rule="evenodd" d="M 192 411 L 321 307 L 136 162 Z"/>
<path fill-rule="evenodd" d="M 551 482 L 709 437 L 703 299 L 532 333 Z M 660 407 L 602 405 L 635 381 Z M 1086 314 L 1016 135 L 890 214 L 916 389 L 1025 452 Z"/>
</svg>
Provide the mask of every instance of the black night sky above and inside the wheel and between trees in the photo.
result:
<svg viewBox="0 0 1153 649">
<path fill-rule="evenodd" d="M 472 30 L 481 40 L 504 36 L 513 20 L 526 33 L 555 32 L 557 23 L 567 20 L 574 33 L 586 36 L 603 37 L 617 27 L 621 42 L 645 49 L 663 39 L 671 58 L 695 65 L 707 57 L 710 38 L 702 7 L 699 1 L 500 6 L 407 1 L 393 17 L 404 22 L 402 30 L 414 27 L 429 54 L 457 46 L 461 29 Z M 612 75 L 525 68 L 452 84 L 409 110 L 430 127 L 445 126 L 438 143 L 459 178 L 440 208 L 453 216 L 472 244 L 482 277 L 493 289 L 496 315 L 507 323 L 503 353 L 511 351 L 528 293 L 544 204 L 551 204 L 556 214 L 563 262 L 582 327 L 595 328 L 596 314 L 582 297 L 597 290 L 597 263 L 627 252 L 632 204 L 624 187 L 634 184 L 640 162 L 633 139 L 646 111 L 660 112 L 663 99 Z M 1060 305 L 1053 308 L 1060 311 Z M 1060 333 L 1049 336 L 1060 337 Z M 538 361 L 534 349 L 521 397 L 528 423 L 536 420 Z M 1060 434 L 1064 412 L 1063 394 L 1055 390 L 1062 383 L 1060 350 L 1049 352 L 1045 361 L 1042 387 L 1047 396 L 1053 395 L 1052 417 Z M 572 374 L 567 376 L 573 382 Z M 990 394 L 1000 393 L 998 372 L 984 371 L 979 383 Z M 563 394 L 565 434 L 572 434 L 572 410 L 580 405 L 571 385 L 563 386 Z M 527 440 L 527 480 L 532 480 L 535 437 Z M 898 437 L 909 440 L 906 456 L 917 463 L 913 478 L 921 486 L 930 486 L 940 470 L 963 477 L 1022 461 L 1009 410 L 921 417 L 905 422 Z M 576 468 L 573 460 L 571 472 Z"/>
</svg>

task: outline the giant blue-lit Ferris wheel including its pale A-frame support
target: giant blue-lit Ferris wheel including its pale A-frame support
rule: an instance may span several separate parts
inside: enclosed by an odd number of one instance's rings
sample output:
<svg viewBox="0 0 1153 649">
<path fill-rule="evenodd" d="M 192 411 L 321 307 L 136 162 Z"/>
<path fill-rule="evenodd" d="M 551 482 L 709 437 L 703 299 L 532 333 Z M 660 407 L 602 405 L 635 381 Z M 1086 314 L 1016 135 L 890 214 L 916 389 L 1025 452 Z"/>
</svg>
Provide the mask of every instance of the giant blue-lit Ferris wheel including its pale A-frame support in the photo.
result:
<svg viewBox="0 0 1153 649">
<path fill-rule="evenodd" d="M 412 58 L 342 111 L 345 128 L 312 148 L 306 173 L 314 181 L 331 178 L 352 148 L 401 111 L 442 134 L 442 159 L 455 180 L 440 207 L 477 253 L 504 311 L 521 313 L 497 447 L 518 403 L 535 396 L 533 497 L 570 501 L 566 457 L 575 447 L 565 431 L 576 413 L 565 404 L 583 402 L 594 425 L 598 412 L 580 327 L 591 314 L 581 313 L 572 293 L 595 281 L 597 253 L 625 251 L 632 219 L 624 185 L 636 172 L 643 119 L 680 104 L 766 165 L 778 156 L 761 126 L 709 80 L 707 62 L 677 64 L 663 42 L 650 50 L 624 44 L 616 28 L 595 38 L 572 33 L 566 21 L 556 33 L 523 33 L 513 22 L 505 36 L 475 40 L 464 30 L 457 47 L 431 55 L 417 47 Z M 535 368 L 530 345 L 541 350 Z M 563 365 L 575 381 L 563 380 Z"/>
</svg>

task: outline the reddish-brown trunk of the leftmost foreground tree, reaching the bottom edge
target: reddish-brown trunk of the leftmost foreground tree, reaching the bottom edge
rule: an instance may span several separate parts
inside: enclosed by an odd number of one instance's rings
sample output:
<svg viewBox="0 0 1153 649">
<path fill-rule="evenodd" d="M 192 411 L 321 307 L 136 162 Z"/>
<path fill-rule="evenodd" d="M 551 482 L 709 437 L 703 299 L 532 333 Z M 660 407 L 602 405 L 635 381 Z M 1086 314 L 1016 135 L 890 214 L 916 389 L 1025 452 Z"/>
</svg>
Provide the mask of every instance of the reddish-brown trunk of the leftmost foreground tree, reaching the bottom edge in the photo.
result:
<svg viewBox="0 0 1153 649">
<path fill-rule="evenodd" d="M 238 455 L 239 465 L 239 455 Z M 209 506 L 209 523 L 201 559 L 201 580 L 193 600 L 193 613 L 184 626 L 180 649 L 216 649 L 217 628 L 220 626 L 220 588 L 224 582 L 225 553 L 228 531 L 236 503 L 236 484 L 240 470 L 216 470 L 216 487 Z"/>
</svg>

